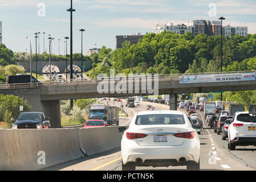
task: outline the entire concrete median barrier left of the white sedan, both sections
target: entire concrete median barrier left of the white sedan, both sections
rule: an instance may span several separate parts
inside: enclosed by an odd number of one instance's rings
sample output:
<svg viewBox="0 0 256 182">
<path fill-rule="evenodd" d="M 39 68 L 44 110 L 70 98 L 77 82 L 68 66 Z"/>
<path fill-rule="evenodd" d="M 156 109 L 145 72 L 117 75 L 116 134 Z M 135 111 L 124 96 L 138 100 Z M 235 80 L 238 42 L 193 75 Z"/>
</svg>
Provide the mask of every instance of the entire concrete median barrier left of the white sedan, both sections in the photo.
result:
<svg viewBox="0 0 256 182">
<path fill-rule="evenodd" d="M 113 150 L 121 146 L 118 127 L 0 130 L 0 171 L 39 170 Z M 38 164 L 39 151 L 45 152 L 44 165 Z"/>
</svg>

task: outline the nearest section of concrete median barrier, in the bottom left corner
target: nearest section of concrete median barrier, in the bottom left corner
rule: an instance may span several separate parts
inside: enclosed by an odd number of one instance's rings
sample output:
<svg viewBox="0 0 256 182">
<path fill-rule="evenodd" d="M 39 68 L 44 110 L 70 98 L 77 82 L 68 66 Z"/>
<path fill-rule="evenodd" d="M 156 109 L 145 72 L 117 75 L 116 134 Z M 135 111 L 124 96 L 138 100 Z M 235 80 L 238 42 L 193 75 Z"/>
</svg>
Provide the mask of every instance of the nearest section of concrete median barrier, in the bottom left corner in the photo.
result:
<svg viewBox="0 0 256 182">
<path fill-rule="evenodd" d="M 45 164 L 38 164 L 39 151 Z M 38 170 L 83 156 L 76 129 L 0 130 L 0 170 Z"/>
</svg>

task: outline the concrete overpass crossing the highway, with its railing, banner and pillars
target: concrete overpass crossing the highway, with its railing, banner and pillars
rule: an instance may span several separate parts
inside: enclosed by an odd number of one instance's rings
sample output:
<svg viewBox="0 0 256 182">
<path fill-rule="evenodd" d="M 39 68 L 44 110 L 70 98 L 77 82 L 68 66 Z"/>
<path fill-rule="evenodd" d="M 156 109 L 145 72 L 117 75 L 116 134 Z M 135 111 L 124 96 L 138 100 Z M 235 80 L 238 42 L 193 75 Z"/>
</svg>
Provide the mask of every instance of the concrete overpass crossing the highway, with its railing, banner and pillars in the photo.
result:
<svg viewBox="0 0 256 182">
<path fill-rule="evenodd" d="M 59 100 L 170 94 L 170 110 L 176 110 L 177 94 L 256 90 L 255 71 L 104 77 L 43 84 L 3 83 L 0 93 L 23 97 L 32 106 L 32 111 L 43 111 L 50 117 L 51 126 L 58 128 Z"/>
</svg>

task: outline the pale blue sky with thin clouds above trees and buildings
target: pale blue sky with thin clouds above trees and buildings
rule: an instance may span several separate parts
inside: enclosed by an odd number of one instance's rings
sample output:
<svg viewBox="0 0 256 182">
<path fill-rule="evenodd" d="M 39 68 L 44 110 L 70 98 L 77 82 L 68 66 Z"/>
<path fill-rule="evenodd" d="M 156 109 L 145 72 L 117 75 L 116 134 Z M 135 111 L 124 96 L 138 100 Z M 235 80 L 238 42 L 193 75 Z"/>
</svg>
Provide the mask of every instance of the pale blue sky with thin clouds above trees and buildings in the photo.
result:
<svg viewBox="0 0 256 182">
<path fill-rule="evenodd" d="M 42 32 L 46 32 L 44 48 L 48 51 L 50 34 L 55 38 L 52 52 L 59 54 L 60 43 L 60 55 L 64 55 L 64 37 L 70 37 L 69 8 L 70 0 L 0 0 L 3 43 L 14 52 L 26 52 L 30 39 L 35 53 L 34 33 L 41 32 L 42 53 Z M 84 55 L 95 47 L 115 49 L 116 35 L 144 35 L 152 32 L 156 23 L 217 20 L 224 16 L 224 26 L 247 26 L 250 34 L 256 33 L 256 0 L 73 0 L 73 9 L 73 53 L 81 52 L 79 30 L 84 28 Z"/>
</svg>

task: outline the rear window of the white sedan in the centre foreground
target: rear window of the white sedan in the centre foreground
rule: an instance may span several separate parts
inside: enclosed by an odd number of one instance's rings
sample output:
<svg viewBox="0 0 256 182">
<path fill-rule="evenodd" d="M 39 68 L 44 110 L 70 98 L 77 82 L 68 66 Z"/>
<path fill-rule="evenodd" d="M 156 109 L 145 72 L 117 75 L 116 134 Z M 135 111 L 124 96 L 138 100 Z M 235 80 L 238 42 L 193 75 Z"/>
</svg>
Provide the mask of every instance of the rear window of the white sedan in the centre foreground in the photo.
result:
<svg viewBox="0 0 256 182">
<path fill-rule="evenodd" d="M 135 125 L 182 125 L 185 124 L 181 114 L 147 114 L 138 115 Z"/>
</svg>

